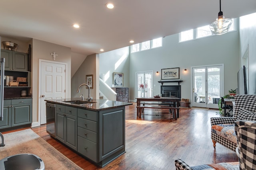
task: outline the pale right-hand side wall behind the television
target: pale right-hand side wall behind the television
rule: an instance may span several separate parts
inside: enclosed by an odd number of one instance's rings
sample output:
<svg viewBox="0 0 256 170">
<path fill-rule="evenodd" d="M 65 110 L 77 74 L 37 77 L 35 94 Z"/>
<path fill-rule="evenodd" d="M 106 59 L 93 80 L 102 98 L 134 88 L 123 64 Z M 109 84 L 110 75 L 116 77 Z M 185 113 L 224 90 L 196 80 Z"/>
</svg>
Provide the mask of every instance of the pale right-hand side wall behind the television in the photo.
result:
<svg viewBox="0 0 256 170">
<path fill-rule="evenodd" d="M 249 74 L 248 74 L 248 94 L 256 94 L 256 13 L 240 17 L 240 60 L 242 67 L 242 57 L 248 47 Z"/>
</svg>

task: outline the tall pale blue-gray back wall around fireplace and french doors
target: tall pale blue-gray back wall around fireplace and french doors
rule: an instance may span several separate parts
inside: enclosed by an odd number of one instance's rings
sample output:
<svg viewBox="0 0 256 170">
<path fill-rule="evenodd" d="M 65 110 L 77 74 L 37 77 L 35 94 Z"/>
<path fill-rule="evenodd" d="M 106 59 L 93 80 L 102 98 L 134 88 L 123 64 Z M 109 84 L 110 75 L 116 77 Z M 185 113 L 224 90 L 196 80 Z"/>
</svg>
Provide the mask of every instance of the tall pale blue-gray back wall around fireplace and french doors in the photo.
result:
<svg viewBox="0 0 256 170">
<path fill-rule="evenodd" d="M 237 85 L 238 31 L 178 43 L 178 34 L 163 38 L 163 47 L 130 54 L 130 99 L 135 98 L 135 72 L 154 70 L 154 95 L 160 94 L 161 69 L 180 68 L 181 97 L 191 100 L 191 67 L 224 64 L 224 93 Z M 187 69 L 184 73 L 183 70 Z M 156 71 L 159 72 L 156 75 Z M 168 83 L 175 84 L 177 83 Z M 168 85 L 165 83 L 164 85 Z"/>
</svg>

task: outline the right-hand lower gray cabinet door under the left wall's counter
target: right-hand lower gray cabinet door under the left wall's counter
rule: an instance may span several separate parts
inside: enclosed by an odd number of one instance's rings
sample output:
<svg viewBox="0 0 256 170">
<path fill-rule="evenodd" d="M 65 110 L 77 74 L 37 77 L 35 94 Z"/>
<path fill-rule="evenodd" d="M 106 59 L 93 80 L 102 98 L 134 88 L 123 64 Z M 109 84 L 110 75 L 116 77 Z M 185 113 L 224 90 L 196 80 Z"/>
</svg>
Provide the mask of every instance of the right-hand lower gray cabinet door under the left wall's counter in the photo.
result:
<svg viewBox="0 0 256 170">
<path fill-rule="evenodd" d="M 12 106 L 12 126 L 26 125 L 32 122 L 32 104 Z"/>
</svg>

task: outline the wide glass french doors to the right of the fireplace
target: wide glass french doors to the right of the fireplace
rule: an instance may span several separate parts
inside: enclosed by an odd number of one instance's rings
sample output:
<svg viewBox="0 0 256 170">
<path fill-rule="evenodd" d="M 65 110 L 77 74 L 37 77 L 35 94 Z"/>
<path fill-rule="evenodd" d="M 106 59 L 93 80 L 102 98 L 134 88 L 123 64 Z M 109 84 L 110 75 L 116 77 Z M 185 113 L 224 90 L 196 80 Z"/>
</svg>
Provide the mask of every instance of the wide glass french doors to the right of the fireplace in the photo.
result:
<svg viewBox="0 0 256 170">
<path fill-rule="evenodd" d="M 223 64 L 192 67 L 192 106 L 218 109 L 224 94 Z"/>
</svg>

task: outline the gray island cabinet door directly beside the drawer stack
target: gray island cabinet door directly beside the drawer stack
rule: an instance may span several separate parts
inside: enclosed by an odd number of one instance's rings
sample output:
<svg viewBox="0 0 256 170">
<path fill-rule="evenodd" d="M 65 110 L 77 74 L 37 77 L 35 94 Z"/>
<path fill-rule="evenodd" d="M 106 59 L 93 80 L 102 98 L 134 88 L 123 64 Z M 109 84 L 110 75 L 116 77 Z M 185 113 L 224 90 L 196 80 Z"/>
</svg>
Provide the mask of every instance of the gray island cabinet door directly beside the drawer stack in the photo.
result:
<svg viewBox="0 0 256 170">
<path fill-rule="evenodd" d="M 77 150 L 77 117 L 66 114 L 65 124 L 65 144 L 70 148 Z"/>
</svg>

